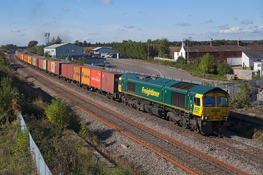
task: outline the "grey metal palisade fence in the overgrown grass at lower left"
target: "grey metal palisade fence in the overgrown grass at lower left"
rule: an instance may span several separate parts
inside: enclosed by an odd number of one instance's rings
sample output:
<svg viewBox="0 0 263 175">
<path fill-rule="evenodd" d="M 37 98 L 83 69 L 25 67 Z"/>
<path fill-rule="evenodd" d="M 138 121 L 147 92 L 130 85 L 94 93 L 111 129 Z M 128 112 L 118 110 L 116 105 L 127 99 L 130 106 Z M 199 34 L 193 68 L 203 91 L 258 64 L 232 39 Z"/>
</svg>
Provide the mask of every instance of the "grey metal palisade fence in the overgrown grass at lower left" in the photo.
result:
<svg viewBox="0 0 263 175">
<path fill-rule="evenodd" d="M 21 130 L 24 131 L 24 129 L 27 126 L 23 119 L 22 114 L 19 113 L 18 119 L 20 120 L 20 123 L 21 123 Z M 40 149 L 37 147 L 36 143 L 34 142 L 34 139 L 32 138 L 30 132 L 29 132 L 29 145 L 30 145 L 31 154 L 33 156 L 34 162 L 36 163 L 39 174 L 40 175 L 52 175 L 51 171 L 48 168 L 47 163 L 44 161 L 44 158 L 42 157 L 42 154 L 40 153 Z"/>
</svg>

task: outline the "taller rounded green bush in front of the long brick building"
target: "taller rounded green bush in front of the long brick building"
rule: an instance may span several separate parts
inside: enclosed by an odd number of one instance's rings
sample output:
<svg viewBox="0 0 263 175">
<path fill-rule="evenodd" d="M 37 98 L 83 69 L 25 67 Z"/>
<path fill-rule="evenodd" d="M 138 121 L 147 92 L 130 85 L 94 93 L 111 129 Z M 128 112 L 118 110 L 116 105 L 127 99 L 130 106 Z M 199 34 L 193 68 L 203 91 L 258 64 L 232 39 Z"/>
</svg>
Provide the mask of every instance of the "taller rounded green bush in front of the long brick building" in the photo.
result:
<svg viewBox="0 0 263 175">
<path fill-rule="evenodd" d="M 209 53 L 203 55 L 199 67 L 203 73 L 213 73 L 215 69 L 214 55 L 210 55 Z"/>
</svg>

